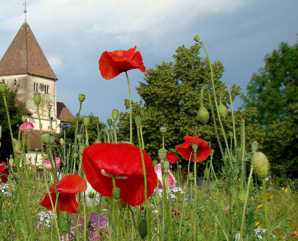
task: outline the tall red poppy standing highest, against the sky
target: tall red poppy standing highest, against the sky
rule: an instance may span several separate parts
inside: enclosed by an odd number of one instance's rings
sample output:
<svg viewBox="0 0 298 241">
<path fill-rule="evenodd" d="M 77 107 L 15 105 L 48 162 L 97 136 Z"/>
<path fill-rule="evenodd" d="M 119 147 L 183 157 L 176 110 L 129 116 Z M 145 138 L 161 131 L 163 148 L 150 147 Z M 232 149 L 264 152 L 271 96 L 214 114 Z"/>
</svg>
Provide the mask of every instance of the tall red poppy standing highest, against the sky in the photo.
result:
<svg viewBox="0 0 298 241">
<path fill-rule="evenodd" d="M 117 75 L 130 69 L 139 69 L 144 73 L 146 71 L 142 55 L 139 51 L 136 51 L 136 46 L 127 51 L 105 51 L 100 56 L 98 64 L 101 75 L 106 80 L 115 78 Z"/>
</svg>

